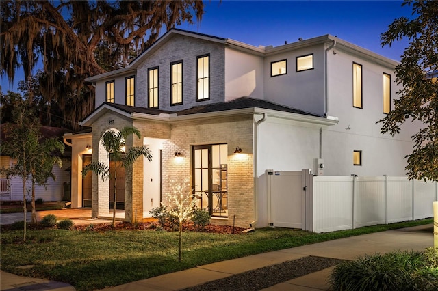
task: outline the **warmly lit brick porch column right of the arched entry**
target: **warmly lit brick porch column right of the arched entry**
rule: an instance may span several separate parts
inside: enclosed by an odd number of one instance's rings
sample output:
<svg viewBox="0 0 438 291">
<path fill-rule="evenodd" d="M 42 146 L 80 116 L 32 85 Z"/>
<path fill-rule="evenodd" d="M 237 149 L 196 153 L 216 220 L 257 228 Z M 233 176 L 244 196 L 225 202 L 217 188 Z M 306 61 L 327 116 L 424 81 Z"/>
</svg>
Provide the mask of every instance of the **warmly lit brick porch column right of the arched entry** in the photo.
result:
<svg viewBox="0 0 438 291">
<path fill-rule="evenodd" d="M 143 146 L 143 139 L 133 137 L 127 146 Z M 143 221 L 143 163 L 140 156 L 125 172 L 125 221 L 129 223 Z"/>
</svg>

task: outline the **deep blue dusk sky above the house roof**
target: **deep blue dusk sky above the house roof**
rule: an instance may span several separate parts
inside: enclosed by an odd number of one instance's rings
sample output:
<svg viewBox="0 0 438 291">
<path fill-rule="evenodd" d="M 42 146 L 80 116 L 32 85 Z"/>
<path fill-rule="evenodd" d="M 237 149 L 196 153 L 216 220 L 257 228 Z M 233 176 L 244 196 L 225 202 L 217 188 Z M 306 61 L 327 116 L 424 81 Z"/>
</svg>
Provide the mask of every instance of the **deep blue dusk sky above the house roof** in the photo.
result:
<svg viewBox="0 0 438 291">
<path fill-rule="evenodd" d="M 296 42 L 298 38 L 305 40 L 331 34 L 396 61 L 400 61 L 407 40 L 382 47 L 381 33 L 396 18 L 412 18 L 411 6 L 402 7 L 402 1 L 395 0 L 222 0 L 204 1 L 204 5 L 200 23 L 183 23 L 177 28 L 253 46 L 279 46 Z M 12 87 L 5 75 L 0 79 L 3 92 L 16 91 L 23 73 L 16 74 Z"/>
</svg>

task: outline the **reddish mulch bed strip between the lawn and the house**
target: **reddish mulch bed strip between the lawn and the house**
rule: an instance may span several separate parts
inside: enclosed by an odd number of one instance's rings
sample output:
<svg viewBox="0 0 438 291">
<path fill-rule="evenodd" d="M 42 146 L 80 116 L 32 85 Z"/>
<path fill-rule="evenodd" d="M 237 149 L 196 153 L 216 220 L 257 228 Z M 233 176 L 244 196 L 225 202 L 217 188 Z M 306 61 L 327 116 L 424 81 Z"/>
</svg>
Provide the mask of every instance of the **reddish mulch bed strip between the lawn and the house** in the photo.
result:
<svg viewBox="0 0 438 291">
<path fill-rule="evenodd" d="M 116 227 L 112 227 L 111 223 L 96 223 L 91 225 L 75 225 L 74 230 L 86 230 L 86 231 L 97 231 L 105 232 L 108 230 L 166 230 L 168 232 L 178 231 L 178 227 L 160 227 L 157 222 L 144 222 L 131 224 L 127 222 L 117 222 Z M 245 230 L 242 227 L 233 227 L 230 225 L 214 225 L 209 224 L 204 228 L 196 227 L 193 223 L 184 223 L 184 232 L 209 232 L 216 234 L 242 234 Z"/>
</svg>

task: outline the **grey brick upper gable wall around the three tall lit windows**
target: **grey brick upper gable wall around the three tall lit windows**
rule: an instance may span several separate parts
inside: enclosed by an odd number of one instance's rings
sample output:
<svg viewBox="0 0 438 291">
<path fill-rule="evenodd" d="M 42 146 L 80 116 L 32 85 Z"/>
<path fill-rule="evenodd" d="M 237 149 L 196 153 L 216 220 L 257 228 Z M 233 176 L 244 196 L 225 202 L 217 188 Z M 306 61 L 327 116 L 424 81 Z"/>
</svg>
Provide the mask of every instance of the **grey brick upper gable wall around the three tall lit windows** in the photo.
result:
<svg viewBox="0 0 438 291">
<path fill-rule="evenodd" d="M 181 49 L 183 48 L 183 49 Z M 196 102 L 196 57 L 210 54 L 210 100 Z M 183 105 L 170 105 L 170 63 L 183 61 Z M 136 106 L 148 107 L 148 69 L 158 67 L 159 109 L 179 111 L 196 105 L 224 101 L 224 45 L 192 38 L 174 36 L 153 53 L 137 69 Z"/>
</svg>

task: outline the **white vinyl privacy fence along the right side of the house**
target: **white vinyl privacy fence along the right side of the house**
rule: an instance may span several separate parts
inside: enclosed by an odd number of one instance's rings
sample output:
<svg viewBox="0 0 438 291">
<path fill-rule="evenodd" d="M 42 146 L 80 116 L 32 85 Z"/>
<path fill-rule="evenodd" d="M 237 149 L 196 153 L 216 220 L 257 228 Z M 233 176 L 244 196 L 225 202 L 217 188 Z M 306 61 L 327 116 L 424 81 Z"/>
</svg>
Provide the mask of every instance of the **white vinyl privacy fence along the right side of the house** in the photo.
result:
<svg viewBox="0 0 438 291">
<path fill-rule="evenodd" d="M 301 223 L 303 230 L 312 232 L 332 232 L 367 225 L 387 224 L 433 217 L 433 201 L 438 199 L 437 182 L 408 180 L 406 177 L 389 176 L 313 176 L 309 170 L 275 172 L 268 176 L 271 201 L 287 201 L 292 195 L 302 195 L 296 204 L 302 205 L 301 215 L 295 214 L 291 221 Z M 302 178 L 290 180 L 284 185 L 285 176 L 291 173 Z M 282 180 L 281 189 L 276 180 Z M 299 185 L 297 185 L 300 183 Z M 292 193 L 292 189 L 294 193 Z M 300 193 L 296 193 L 300 192 Z M 289 199 L 290 200 L 290 199 Z M 271 204 L 268 223 L 272 226 L 287 225 L 287 213 L 279 213 L 288 208 L 275 208 Z M 282 217 L 281 223 L 276 217 Z M 302 217 L 297 221 L 296 217 Z M 298 224 L 297 224 L 298 223 Z"/>
</svg>

